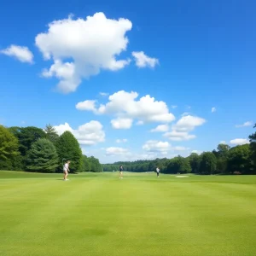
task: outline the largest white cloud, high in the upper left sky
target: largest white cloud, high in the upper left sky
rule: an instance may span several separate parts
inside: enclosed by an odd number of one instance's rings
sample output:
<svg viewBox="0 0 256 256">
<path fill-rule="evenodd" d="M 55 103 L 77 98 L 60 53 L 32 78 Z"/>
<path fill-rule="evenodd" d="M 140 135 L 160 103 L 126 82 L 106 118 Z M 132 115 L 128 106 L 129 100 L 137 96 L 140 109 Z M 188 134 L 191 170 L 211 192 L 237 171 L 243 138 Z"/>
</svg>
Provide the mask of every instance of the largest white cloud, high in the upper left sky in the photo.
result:
<svg viewBox="0 0 256 256">
<path fill-rule="evenodd" d="M 45 77 L 60 79 L 58 90 L 70 93 L 77 90 L 82 79 L 100 73 L 102 69 L 117 71 L 130 63 L 129 59 L 117 60 L 129 42 L 125 36 L 131 30 L 131 21 L 108 19 L 103 13 L 73 20 L 54 20 L 48 31 L 35 38 L 45 60 L 52 60 Z M 67 62 L 67 59 L 71 61 Z"/>
</svg>

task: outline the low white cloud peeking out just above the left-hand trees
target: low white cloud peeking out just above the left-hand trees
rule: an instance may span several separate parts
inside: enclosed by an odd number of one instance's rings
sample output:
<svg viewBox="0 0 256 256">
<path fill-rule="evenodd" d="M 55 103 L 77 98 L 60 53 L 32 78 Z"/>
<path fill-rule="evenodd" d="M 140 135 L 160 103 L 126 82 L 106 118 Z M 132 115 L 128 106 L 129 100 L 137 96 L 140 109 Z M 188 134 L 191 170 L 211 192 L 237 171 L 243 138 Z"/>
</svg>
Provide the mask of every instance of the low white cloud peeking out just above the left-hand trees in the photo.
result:
<svg viewBox="0 0 256 256">
<path fill-rule="evenodd" d="M 61 135 L 64 131 L 71 131 L 73 136 L 81 145 L 94 145 L 105 141 L 105 132 L 103 126 L 98 121 L 90 121 L 84 125 L 80 125 L 78 130 L 74 130 L 70 125 L 56 125 L 55 130 Z"/>
</svg>

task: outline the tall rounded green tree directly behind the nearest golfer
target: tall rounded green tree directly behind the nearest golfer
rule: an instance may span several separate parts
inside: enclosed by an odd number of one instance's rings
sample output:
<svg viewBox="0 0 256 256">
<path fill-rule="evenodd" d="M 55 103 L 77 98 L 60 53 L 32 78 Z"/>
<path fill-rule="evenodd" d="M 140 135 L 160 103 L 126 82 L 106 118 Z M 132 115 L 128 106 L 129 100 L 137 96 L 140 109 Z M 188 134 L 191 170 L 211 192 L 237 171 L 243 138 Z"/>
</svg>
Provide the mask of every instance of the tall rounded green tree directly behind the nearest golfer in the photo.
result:
<svg viewBox="0 0 256 256">
<path fill-rule="evenodd" d="M 78 140 L 70 131 L 65 131 L 57 140 L 55 147 L 60 159 L 59 170 L 62 171 L 62 160 L 70 160 L 70 172 L 81 172 L 83 154 Z"/>
</svg>

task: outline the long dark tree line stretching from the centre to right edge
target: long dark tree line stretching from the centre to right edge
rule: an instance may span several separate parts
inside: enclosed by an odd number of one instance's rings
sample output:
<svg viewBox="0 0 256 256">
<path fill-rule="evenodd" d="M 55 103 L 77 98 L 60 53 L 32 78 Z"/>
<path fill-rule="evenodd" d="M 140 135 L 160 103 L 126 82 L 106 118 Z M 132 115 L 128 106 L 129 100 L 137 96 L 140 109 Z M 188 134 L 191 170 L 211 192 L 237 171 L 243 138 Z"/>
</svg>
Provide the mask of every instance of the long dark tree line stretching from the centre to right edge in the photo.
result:
<svg viewBox="0 0 256 256">
<path fill-rule="evenodd" d="M 254 125 L 256 128 L 256 124 Z M 249 144 L 230 147 L 218 144 L 217 149 L 188 157 L 178 155 L 172 159 L 122 161 L 102 165 L 104 172 L 118 171 L 124 166 L 126 172 L 155 172 L 196 174 L 256 174 L 256 132 L 249 136 Z"/>
</svg>

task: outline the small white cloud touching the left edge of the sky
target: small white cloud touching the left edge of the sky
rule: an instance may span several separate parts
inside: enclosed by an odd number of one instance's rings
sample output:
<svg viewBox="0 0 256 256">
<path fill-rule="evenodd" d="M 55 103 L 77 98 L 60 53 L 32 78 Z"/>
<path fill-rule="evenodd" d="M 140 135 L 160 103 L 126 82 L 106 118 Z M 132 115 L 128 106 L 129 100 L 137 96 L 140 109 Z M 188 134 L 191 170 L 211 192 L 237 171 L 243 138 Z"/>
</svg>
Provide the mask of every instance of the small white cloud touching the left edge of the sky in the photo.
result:
<svg viewBox="0 0 256 256">
<path fill-rule="evenodd" d="M 33 62 L 33 54 L 26 46 L 19 46 L 12 44 L 6 49 L 2 49 L 0 51 L 3 55 L 8 55 L 10 57 L 15 57 L 17 60 L 21 62 Z"/>
</svg>

